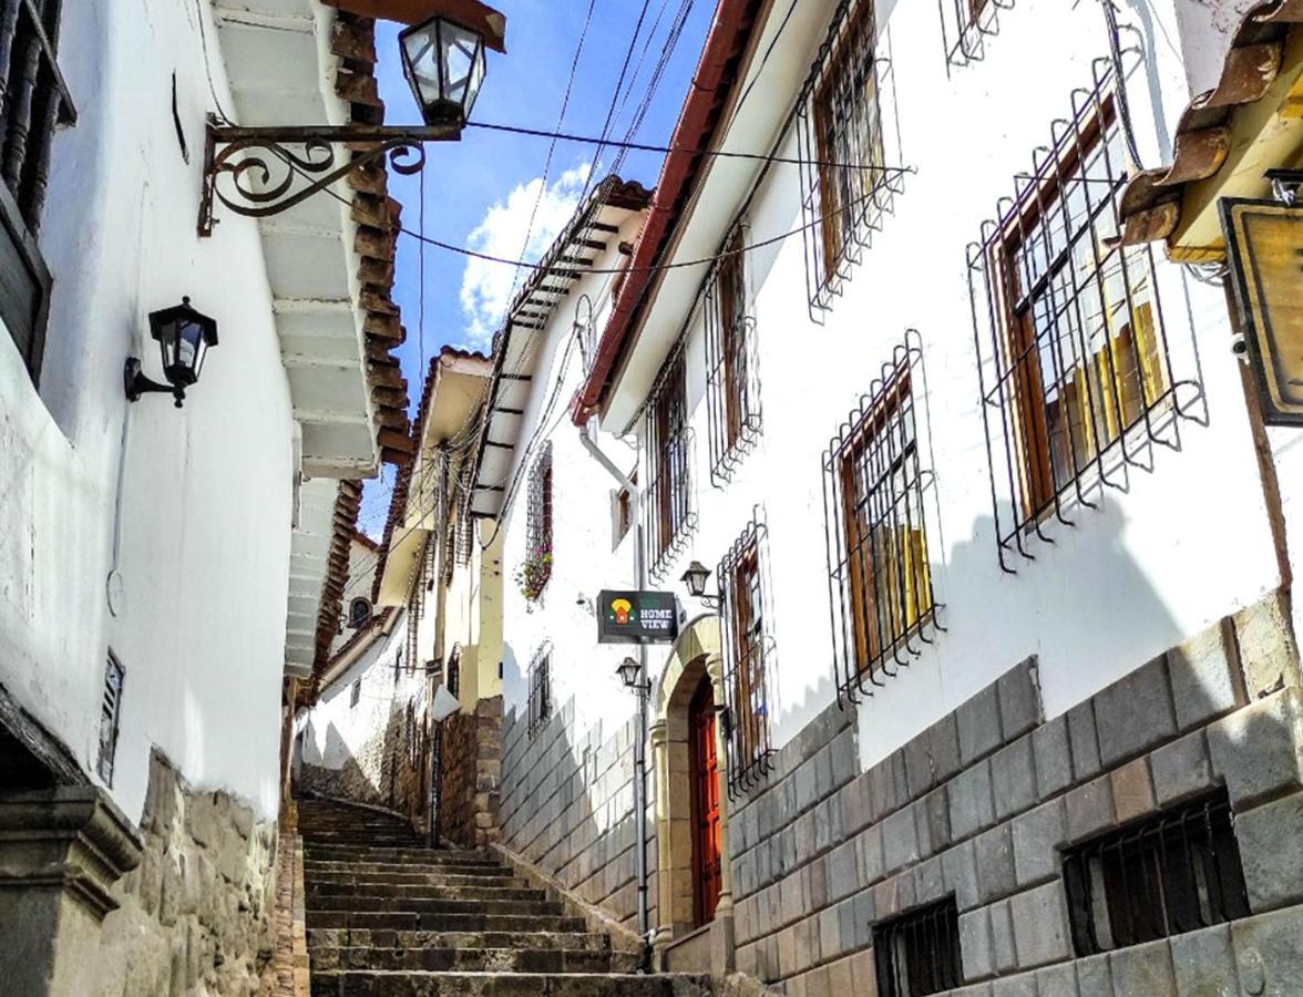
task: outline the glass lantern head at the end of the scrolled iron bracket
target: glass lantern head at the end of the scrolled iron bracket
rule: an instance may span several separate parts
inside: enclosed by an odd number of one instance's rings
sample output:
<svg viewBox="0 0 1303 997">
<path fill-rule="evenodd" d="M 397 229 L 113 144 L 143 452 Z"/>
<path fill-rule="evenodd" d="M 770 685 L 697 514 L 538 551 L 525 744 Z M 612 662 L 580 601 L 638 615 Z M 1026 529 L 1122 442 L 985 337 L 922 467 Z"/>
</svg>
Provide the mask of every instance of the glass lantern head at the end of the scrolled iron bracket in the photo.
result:
<svg viewBox="0 0 1303 997">
<path fill-rule="evenodd" d="M 483 36 L 446 17 L 431 17 L 403 31 L 399 46 L 425 123 L 465 126 L 485 81 Z"/>
</svg>

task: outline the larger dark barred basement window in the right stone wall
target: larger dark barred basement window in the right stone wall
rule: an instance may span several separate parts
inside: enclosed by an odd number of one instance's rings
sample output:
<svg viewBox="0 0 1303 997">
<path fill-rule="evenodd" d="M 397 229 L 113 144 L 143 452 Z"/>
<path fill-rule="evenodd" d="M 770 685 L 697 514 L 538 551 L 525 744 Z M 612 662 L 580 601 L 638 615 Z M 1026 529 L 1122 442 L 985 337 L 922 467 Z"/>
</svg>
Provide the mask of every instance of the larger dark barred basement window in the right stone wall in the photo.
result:
<svg viewBox="0 0 1303 997">
<path fill-rule="evenodd" d="M 1063 882 L 1078 955 L 1250 914 L 1226 790 L 1066 851 Z"/>
</svg>

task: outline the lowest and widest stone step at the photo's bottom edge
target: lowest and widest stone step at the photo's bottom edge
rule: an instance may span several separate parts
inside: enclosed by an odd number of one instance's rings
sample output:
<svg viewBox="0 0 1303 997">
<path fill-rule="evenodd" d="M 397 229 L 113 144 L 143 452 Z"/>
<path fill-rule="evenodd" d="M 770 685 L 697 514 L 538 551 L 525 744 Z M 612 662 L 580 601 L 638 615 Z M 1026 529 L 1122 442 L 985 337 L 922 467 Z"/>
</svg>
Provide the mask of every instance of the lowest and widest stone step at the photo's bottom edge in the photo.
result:
<svg viewBox="0 0 1303 997">
<path fill-rule="evenodd" d="M 313 972 L 313 997 L 709 997 L 710 977 L 665 974 Z"/>
</svg>

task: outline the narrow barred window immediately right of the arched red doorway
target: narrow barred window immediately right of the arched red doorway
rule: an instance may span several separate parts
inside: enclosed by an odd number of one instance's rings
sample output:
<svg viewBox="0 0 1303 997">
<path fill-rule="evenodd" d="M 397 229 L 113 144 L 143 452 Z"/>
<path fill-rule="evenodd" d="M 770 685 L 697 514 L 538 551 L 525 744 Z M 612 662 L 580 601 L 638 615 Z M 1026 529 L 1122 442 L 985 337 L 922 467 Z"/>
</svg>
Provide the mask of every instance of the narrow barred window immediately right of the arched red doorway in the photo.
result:
<svg viewBox="0 0 1303 997">
<path fill-rule="evenodd" d="M 761 510 L 719 562 L 719 605 L 724 639 L 724 751 L 728 798 L 749 792 L 773 772 L 770 676 L 771 636 L 769 532 Z"/>
</svg>

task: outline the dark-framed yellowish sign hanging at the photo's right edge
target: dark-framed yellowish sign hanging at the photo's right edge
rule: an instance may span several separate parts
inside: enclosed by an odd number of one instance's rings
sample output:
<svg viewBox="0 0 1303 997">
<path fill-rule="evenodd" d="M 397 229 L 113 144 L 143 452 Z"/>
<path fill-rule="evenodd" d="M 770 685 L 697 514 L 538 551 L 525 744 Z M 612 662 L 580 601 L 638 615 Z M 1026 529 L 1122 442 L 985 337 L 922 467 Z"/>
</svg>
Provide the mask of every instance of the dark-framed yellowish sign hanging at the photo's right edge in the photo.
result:
<svg viewBox="0 0 1303 997">
<path fill-rule="evenodd" d="M 1303 426 L 1303 207 L 1222 198 L 1221 212 L 1263 421 Z"/>
</svg>

